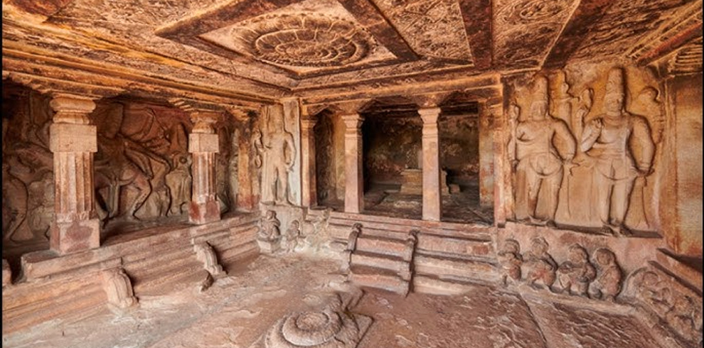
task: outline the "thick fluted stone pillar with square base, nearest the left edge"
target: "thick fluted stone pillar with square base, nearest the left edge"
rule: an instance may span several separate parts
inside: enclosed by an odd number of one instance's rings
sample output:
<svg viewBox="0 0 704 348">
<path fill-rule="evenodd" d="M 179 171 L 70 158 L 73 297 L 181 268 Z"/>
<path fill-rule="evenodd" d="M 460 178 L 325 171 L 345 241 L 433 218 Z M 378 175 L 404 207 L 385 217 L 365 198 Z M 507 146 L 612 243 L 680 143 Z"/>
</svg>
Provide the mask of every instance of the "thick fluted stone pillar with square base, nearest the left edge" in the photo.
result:
<svg viewBox="0 0 704 348">
<path fill-rule="evenodd" d="M 49 129 L 55 192 L 49 247 L 59 254 L 95 249 L 100 246 L 100 220 L 95 212 L 93 185 L 97 129 L 88 119 L 95 102 L 62 94 L 49 105 L 56 112 Z"/>
</svg>

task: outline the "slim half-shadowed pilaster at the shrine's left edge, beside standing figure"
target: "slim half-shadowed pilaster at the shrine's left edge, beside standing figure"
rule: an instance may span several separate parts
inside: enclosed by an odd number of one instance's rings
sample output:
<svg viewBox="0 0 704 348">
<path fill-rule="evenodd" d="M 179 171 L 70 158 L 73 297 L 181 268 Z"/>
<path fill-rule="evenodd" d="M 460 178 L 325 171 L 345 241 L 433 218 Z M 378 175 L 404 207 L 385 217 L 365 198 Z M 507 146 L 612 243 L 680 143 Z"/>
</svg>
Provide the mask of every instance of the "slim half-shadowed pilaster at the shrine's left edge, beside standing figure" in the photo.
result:
<svg viewBox="0 0 704 348">
<path fill-rule="evenodd" d="M 315 116 L 306 116 L 306 118 L 301 119 L 302 200 L 304 207 L 318 205 L 315 181 L 315 134 L 313 133 L 313 127 L 317 121 Z"/>
</svg>

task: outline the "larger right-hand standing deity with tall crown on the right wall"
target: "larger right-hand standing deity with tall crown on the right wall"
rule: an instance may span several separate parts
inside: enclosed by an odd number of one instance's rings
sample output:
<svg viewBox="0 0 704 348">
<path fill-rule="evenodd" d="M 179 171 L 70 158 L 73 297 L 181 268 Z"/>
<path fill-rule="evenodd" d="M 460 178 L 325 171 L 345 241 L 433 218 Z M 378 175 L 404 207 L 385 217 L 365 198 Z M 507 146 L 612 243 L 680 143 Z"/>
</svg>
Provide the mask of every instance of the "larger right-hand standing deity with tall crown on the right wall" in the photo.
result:
<svg viewBox="0 0 704 348">
<path fill-rule="evenodd" d="M 625 97 L 623 70 L 613 68 L 604 95 L 605 113 L 587 123 L 580 145 L 594 161 L 594 192 L 604 234 L 630 234 L 624 219 L 634 181 L 652 171 L 655 145 L 648 123 L 625 111 Z M 633 149 L 638 152 L 635 158 Z"/>
</svg>

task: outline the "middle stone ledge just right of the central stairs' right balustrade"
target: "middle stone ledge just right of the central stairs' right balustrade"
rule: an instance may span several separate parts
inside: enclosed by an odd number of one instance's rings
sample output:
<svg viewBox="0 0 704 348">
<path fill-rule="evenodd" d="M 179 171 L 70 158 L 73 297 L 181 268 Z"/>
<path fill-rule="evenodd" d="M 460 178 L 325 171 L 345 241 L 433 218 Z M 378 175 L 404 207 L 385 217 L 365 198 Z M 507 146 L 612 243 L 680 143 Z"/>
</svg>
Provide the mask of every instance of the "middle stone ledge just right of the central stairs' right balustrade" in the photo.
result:
<svg viewBox="0 0 704 348">
<path fill-rule="evenodd" d="M 494 263 L 447 256 L 416 254 L 413 259 L 413 270 L 416 274 L 439 277 L 453 276 L 496 282 L 500 278 Z"/>
</svg>

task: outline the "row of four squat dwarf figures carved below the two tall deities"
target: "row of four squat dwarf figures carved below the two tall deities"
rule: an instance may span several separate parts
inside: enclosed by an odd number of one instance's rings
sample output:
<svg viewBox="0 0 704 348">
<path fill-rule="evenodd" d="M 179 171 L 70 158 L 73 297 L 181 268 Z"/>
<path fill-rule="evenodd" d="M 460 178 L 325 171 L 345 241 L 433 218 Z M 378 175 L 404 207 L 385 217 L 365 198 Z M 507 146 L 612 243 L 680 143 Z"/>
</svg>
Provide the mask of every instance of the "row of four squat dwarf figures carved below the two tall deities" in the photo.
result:
<svg viewBox="0 0 704 348">
<path fill-rule="evenodd" d="M 503 284 L 525 281 L 535 288 L 547 287 L 553 293 L 608 301 L 619 295 L 624 276 L 611 250 L 595 250 L 590 261 L 583 246 L 572 244 L 568 257 L 558 266 L 548 253 L 548 242 L 541 236 L 531 239 L 530 250 L 523 254 L 518 241 L 506 239 L 498 253 Z"/>
</svg>

